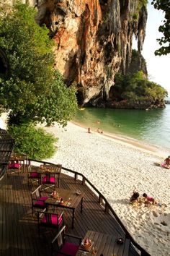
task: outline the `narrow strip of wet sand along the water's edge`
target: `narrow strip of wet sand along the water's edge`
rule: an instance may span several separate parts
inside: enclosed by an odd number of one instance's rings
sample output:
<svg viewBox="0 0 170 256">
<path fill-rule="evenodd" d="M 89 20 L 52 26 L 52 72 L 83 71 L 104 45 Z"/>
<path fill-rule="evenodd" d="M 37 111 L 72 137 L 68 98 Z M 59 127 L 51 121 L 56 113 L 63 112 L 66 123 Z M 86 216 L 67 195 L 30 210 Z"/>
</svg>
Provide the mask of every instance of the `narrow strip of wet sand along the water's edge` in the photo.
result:
<svg viewBox="0 0 170 256">
<path fill-rule="evenodd" d="M 81 124 L 81 123 L 76 122 L 76 121 L 71 121 L 71 123 L 75 124 L 78 127 L 84 128 L 84 129 L 88 128 L 88 127 L 84 126 L 84 124 Z M 98 132 L 95 131 L 93 128 L 91 128 L 91 131 L 98 134 Z M 149 153 L 149 154 L 152 154 L 152 155 L 156 155 L 156 156 L 161 157 L 161 158 L 166 158 L 167 155 L 169 155 L 168 150 L 162 150 L 161 148 L 156 147 L 156 145 L 153 146 L 153 145 L 149 145 L 149 144 L 144 143 L 144 142 L 139 142 L 138 140 L 135 140 L 131 137 L 116 135 L 114 133 L 109 133 L 109 132 L 105 132 L 105 131 L 104 131 L 103 134 L 100 134 L 100 135 L 105 136 L 105 137 L 109 137 L 112 140 L 115 140 L 117 143 L 120 142 L 120 144 L 122 144 L 122 145 L 128 145 L 129 147 L 136 148 L 138 150 L 142 150 L 143 152 L 146 152 L 146 153 Z"/>
</svg>

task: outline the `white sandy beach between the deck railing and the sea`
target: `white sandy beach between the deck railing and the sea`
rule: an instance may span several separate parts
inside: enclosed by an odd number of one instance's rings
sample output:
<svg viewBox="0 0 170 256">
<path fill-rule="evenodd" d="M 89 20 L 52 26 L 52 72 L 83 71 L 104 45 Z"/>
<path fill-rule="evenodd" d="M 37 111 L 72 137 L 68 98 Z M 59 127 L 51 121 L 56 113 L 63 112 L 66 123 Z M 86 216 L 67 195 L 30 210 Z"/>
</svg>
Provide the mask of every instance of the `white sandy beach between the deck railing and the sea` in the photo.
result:
<svg viewBox="0 0 170 256">
<path fill-rule="evenodd" d="M 59 138 L 58 152 L 48 161 L 84 174 L 107 198 L 136 242 L 151 255 L 170 255 L 170 170 L 153 164 L 161 163 L 169 153 L 162 152 L 160 157 L 97 132 L 88 134 L 72 123 L 64 129 L 45 129 Z M 133 189 L 156 197 L 167 207 L 130 205 Z"/>
</svg>

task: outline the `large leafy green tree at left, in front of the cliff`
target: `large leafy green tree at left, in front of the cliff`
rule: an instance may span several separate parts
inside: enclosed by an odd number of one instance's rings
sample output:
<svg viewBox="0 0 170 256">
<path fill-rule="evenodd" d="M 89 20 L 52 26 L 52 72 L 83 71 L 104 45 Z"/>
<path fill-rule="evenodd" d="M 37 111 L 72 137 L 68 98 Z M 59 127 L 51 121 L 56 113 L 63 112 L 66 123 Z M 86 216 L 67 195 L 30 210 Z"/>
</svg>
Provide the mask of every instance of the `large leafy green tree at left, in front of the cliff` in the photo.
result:
<svg viewBox="0 0 170 256">
<path fill-rule="evenodd" d="M 35 9 L 19 3 L 1 12 L 0 47 L 10 71 L 0 75 L 0 106 L 9 111 L 9 125 L 66 125 L 76 111 L 75 89 L 67 88 L 61 74 L 54 72 L 53 40 L 47 27 L 36 24 L 35 14 Z"/>
</svg>

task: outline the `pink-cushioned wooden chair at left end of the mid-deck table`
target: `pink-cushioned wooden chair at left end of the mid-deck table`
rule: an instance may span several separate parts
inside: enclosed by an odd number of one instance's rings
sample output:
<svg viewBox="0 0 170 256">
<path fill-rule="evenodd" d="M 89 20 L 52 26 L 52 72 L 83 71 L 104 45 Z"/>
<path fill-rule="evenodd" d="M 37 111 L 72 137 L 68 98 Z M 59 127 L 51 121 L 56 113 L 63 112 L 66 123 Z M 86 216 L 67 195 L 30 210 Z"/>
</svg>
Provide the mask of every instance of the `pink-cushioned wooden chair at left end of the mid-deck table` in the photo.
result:
<svg viewBox="0 0 170 256">
<path fill-rule="evenodd" d="M 32 200 L 32 215 L 34 213 L 34 209 L 45 209 L 45 200 L 48 197 L 42 195 L 42 186 L 37 187 L 33 192 L 31 192 L 31 200 Z"/>
</svg>

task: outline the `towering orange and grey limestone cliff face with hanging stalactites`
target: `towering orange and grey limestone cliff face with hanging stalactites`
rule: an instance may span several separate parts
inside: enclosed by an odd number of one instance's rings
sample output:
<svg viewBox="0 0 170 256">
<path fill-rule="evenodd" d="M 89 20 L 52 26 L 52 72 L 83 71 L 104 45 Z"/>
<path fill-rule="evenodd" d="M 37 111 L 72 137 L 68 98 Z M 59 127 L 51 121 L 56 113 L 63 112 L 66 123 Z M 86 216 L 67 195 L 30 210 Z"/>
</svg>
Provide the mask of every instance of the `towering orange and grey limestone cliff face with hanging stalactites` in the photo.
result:
<svg viewBox="0 0 170 256">
<path fill-rule="evenodd" d="M 140 0 L 42 0 L 37 22 L 55 40 L 55 67 L 78 85 L 79 103 L 107 101 L 115 73 L 130 62 L 133 35 L 141 51 L 147 11 Z M 128 59 L 128 60 L 127 60 Z"/>
</svg>

